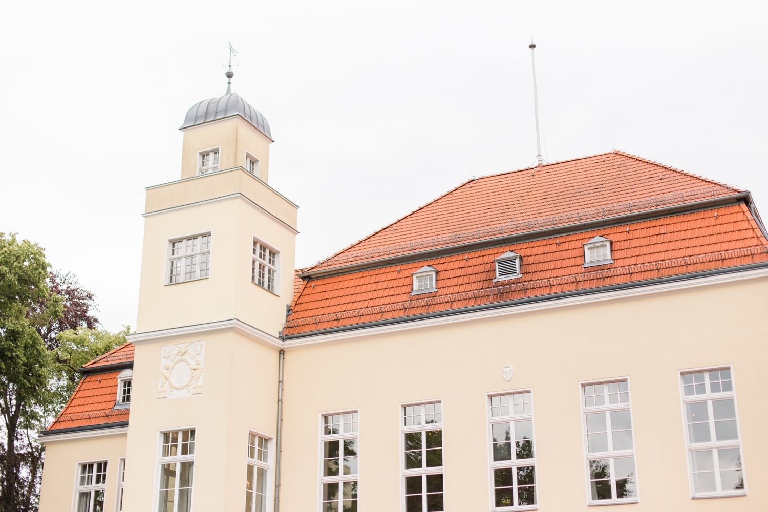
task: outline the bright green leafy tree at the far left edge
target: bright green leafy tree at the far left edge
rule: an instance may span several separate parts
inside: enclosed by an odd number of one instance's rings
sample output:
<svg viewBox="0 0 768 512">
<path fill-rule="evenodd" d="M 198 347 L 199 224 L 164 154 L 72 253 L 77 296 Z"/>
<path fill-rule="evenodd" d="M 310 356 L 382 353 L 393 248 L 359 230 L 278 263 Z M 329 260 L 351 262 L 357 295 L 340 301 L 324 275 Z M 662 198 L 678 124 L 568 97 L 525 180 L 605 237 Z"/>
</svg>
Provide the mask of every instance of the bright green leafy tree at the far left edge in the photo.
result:
<svg viewBox="0 0 768 512">
<path fill-rule="evenodd" d="M 24 427 L 39 418 L 35 407 L 48 385 L 49 354 L 38 327 L 61 316 L 61 298 L 46 284 L 48 262 L 43 249 L 14 234 L 0 233 L 0 510 L 36 510 L 17 448 L 25 445 Z M 45 303 L 44 307 L 38 305 Z M 32 506 L 33 508 L 30 508 Z"/>
</svg>

